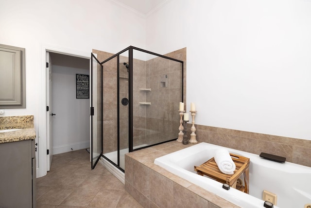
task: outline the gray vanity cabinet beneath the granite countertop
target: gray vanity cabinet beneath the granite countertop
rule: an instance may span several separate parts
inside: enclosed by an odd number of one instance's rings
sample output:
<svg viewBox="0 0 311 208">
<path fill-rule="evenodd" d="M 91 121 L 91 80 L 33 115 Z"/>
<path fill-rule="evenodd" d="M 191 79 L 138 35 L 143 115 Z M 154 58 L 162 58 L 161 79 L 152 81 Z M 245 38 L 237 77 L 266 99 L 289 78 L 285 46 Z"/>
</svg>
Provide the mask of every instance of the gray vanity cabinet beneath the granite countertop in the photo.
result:
<svg viewBox="0 0 311 208">
<path fill-rule="evenodd" d="M 35 208 L 35 140 L 0 144 L 0 208 Z"/>
</svg>

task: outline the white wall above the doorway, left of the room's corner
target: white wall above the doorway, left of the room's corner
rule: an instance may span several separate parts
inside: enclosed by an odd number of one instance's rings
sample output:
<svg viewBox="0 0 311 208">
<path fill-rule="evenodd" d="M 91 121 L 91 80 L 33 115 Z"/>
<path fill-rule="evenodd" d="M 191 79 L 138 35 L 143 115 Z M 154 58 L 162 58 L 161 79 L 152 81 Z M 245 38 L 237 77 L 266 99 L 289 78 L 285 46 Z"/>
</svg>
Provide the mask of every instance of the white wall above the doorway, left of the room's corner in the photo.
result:
<svg viewBox="0 0 311 208">
<path fill-rule="evenodd" d="M 25 48 L 26 54 L 26 108 L 5 109 L 3 116 L 34 115 L 37 176 L 46 174 L 44 50 L 90 55 L 92 49 L 118 53 L 130 45 L 145 48 L 145 22 L 111 0 L 0 0 L 0 43 Z"/>
</svg>

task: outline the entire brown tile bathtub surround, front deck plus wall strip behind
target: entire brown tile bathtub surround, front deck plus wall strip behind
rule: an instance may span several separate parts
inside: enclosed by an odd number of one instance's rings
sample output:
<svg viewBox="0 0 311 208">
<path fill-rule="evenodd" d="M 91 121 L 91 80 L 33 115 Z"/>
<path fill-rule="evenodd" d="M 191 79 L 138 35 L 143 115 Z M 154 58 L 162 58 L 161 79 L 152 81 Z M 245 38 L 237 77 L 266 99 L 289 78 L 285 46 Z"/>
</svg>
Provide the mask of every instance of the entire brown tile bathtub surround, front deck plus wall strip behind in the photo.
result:
<svg viewBox="0 0 311 208">
<path fill-rule="evenodd" d="M 191 124 L 188 124 L 189 129 Z M 195 125 L 197 140 L 241 151 L 267 152 L 311 167 L 311 141 Z M 190 132 L 188 132 L 190 136 Z M 190 147 L 172 141 L 125 154 L 125 189 L 144 208 L 235 208 L 230 202 L 154 164 L 157 157 Z M 277 152 L 277 153 L 276 153 Z M 187 195 L 187 197 L 185 197 Z M 177 206 L 177 207 L 178 207 Z M 190 207 L 191 207 L 190 206 Z"/>
</svg>

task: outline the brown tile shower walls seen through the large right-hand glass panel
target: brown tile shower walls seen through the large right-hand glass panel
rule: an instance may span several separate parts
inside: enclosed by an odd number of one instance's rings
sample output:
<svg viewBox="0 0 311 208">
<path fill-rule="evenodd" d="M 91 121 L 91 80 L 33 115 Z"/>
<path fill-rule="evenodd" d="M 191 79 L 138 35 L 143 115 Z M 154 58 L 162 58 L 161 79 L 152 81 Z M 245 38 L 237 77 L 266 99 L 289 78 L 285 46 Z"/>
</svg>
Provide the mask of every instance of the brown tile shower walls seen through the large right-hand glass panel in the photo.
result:
<svg viewBox="0 0 311 208">
<path fill-rule="evenodd" d="M 176 59 L 184 58 L 185 61 L 186 48 L 168 55 Z M 176 106 L 181 101 L 179 97 L 182 86 L 181 63 L 155 57 L 148 61 L 134 59 L 133 64 L 134 73 L 139 73 L 133 76 L 134 146 L 150 145 L 176 138 L 179 126 Z M 167 76 L 168 80 L 165 87 L 161 83 L 163 76 Z M 142 92 L 139 88 L 151 88 L 151 91 Z M 139 102 L 151 102 L 151 106 L 139 105 Z"/>
</svg>

